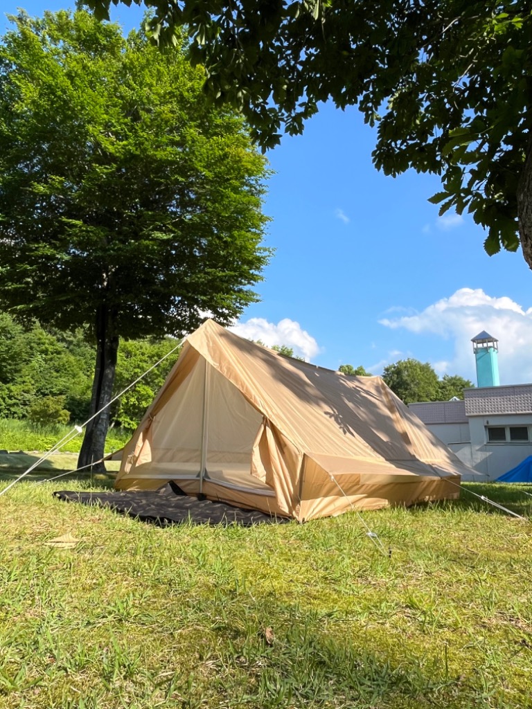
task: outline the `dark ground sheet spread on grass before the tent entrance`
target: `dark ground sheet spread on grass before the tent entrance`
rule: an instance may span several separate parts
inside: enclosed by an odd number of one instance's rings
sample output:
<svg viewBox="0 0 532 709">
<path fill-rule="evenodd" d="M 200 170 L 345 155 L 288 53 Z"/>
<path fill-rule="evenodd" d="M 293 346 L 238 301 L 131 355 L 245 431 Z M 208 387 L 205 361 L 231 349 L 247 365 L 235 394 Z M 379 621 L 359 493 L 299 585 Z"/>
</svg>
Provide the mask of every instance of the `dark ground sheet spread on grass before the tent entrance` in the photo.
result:
<svg viewBox="0 0 532 709">
<path fill-rule="evenodd" d="M 54 496 L 65 502 L 109 507 L 122 515 L 161 527 L 192 522 L 193 524 L 250 527 L 257 524 L 287 522 L 286 519 L 265 515 L 257 510 L 243 510 L 224 502 L 199 500 L 182 493 L 174 483 L 157 491 L 72 492 L 55 491 Z"/>
</svg>

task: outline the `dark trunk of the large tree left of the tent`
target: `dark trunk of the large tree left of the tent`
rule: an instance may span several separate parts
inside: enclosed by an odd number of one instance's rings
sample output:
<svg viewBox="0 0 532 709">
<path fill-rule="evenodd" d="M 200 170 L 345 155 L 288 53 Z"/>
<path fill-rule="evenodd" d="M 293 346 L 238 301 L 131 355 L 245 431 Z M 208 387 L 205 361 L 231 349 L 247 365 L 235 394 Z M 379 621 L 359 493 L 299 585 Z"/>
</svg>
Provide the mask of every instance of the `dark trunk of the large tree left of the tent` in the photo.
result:
<svg viewBox="0 0 532 709">
<path fill-rule="evenodd" d="M 92 384 L 90 416 L 106 406 L 113 396 L 118 335 L 116 335 L 116 311 L 103 305 L 96 311 L 96 367 Z M 105 473 L 104 463 L 97 462 L 104 457 L 105 439 L 109 428 L 111 412 L 104 408 L 87 424 L 82 450 L 79 452 L 78 467 L 94 464 L 93 470 Z"/>
</svg>

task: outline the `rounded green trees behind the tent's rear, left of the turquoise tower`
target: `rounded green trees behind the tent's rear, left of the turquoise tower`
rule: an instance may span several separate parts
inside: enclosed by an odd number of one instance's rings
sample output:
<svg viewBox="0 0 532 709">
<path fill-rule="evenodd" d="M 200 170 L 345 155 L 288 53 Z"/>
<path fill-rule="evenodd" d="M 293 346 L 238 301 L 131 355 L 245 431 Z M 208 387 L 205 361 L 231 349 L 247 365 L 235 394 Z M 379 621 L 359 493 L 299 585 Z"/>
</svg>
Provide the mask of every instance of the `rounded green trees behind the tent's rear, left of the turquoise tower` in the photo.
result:
<svg viewBox="0 0 532 709">
<path fill-rule="evenodd" d="M 411 358 L 384 367 L 382 379 L 404 403 L 463 398 L 463 390 L 473 386 L 458 375 L 445 374 L 439 379 L 431 364 Z"/>
</svg>

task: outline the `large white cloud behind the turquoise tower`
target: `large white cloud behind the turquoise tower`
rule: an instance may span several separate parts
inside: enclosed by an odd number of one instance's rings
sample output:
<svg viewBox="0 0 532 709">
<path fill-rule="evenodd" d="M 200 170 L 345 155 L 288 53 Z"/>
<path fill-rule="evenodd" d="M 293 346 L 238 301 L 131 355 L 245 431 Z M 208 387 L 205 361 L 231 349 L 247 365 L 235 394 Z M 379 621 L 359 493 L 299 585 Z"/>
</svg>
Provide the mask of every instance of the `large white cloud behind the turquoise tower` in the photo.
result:
<svg viewBox="0 0 532 709">
<path fill-rule="evenodd" d="M 482 330 L 499 340 L 501 384 L 532 381 L 532 308 L 525 310 L 508 296 L 489 296 L 482 289 L 461 288 L 420 313 L 379 320 L 387 328 L 431 333 L 454 340 L 454 356 L 439 358 L 439 374 L 461 374 L 476 383 L 471 338 Z"/>
</svg>

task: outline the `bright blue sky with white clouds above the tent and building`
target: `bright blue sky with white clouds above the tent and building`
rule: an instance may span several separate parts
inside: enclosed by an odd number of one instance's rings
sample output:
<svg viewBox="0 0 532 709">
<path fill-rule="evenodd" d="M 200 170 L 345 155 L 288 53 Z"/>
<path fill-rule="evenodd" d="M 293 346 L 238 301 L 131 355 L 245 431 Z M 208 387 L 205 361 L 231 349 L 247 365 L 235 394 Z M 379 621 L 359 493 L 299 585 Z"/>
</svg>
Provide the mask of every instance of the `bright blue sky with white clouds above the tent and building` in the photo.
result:
<svg viewBox="0 0 532 709">
<path fill-rule="evenodd" d="M 18 6 L 39 15 L 69 3 L 6 0 L 2 10 Z M 113 9 L 126 30 L 140 17 Z M 437 177 L 384 177 L 372 166 L 374 144 L 358 111 L 326 105 L 303 135 L 268 153 L 267 244 L 276 254 L 262 301 L 235 330 L 331 369 L 363 364 L 380 374 L 415 357 L 475 381 L 470 338 L 485 329 L 499 339 L 501 384 L 532 381 L 532 274 L 521 253 L 488 257 L 468 216 L 438 218 L 428 203 Z"/>
</svg>

